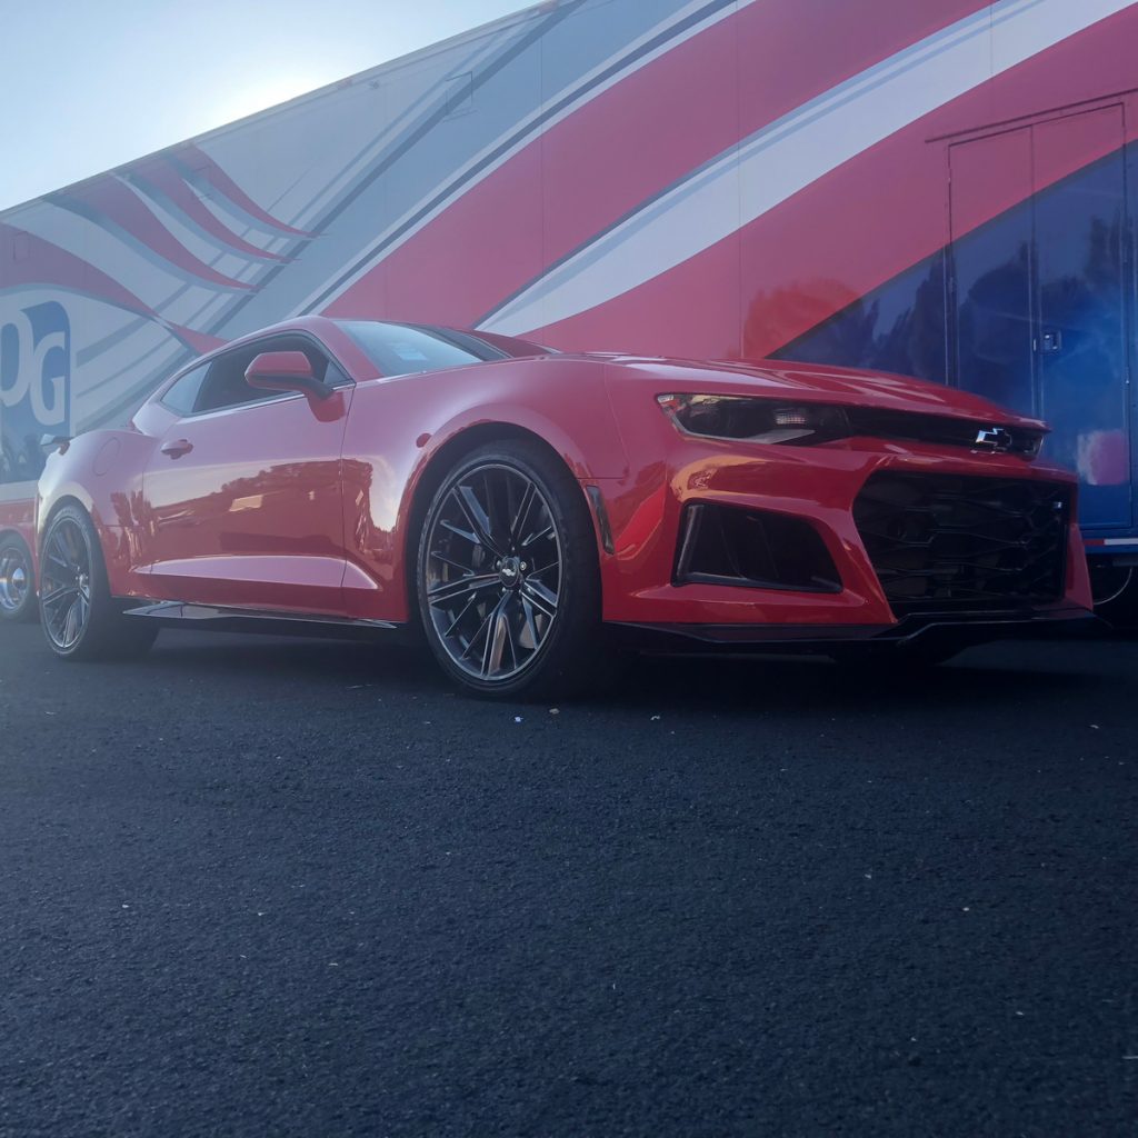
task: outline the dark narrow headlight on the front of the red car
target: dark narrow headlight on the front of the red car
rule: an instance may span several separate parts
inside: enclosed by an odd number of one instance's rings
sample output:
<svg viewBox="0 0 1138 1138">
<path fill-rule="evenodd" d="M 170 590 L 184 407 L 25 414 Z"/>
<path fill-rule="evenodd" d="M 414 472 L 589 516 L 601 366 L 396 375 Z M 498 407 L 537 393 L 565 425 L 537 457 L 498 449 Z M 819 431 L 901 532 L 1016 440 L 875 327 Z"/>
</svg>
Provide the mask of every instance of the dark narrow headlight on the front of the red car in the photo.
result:
<svg viewBox="0 0 1138 1138">
<path fill-rule="evenodd" d="M 658 395 L 657 402 L 681 430 L 704 438 L 809 446 L 850 437 L 846 412 L 824 404 L 737 395 Z"/>
</svg>

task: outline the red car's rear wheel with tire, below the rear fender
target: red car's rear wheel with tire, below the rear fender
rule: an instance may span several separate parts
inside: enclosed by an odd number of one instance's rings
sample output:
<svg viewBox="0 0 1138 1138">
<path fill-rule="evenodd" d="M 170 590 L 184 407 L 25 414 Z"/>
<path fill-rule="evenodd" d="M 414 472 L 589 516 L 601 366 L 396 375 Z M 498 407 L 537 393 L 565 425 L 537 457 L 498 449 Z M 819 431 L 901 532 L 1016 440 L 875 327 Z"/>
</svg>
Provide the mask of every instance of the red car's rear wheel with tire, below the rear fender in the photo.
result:
<svg viewBox="0 0 1138 1138">
<path fill-rule="evenodd" d="M 145 619 L 124 616 L 110 595 L 98 534 L 80 506 L 63 506 L 44 535 L 40 620 L 48 646 L 65 660 L 130 659 L 158 635 Z"/>
</svg>

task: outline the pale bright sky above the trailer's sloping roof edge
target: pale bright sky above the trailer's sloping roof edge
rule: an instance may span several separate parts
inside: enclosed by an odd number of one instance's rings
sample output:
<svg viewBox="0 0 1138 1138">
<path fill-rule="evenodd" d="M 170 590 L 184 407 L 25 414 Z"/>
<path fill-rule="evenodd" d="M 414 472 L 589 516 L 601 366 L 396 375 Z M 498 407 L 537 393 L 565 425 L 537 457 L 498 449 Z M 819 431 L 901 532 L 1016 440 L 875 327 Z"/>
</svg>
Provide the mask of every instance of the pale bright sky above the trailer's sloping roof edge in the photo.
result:
<svg viewBox="0 0 1138 1138">
<path fill-rule="evenodd" d="M 533 0 L 0 0 L 0 209 Z"/>
</svg>

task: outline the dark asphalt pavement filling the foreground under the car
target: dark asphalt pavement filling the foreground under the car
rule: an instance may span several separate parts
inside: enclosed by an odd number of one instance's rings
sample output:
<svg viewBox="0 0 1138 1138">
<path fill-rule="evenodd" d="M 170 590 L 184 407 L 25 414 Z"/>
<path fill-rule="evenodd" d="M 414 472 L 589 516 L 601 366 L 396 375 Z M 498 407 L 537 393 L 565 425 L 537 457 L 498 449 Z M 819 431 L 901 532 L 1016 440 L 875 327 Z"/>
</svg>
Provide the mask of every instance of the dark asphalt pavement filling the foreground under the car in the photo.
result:
<svg viewBox="0 0 1138 1138">
<path fill-rule="evenodd" d="M 1138 1132 L 1138 643 L 0 636 L 5 1138 Z"/>
</svg>

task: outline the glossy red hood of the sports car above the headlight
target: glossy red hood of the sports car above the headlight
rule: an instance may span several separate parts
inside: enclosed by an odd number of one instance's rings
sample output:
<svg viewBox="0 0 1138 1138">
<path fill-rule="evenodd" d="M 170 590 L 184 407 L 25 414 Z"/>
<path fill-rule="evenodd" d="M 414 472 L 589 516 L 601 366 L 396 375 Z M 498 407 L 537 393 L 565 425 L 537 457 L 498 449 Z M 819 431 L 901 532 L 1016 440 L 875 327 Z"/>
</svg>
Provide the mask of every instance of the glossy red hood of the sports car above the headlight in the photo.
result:
<svg viewBox="0 0 1138 1138">
<path fill-rule="evenodd" d="M 888 372 L 782 360 L 735 363 L 627 355 L 592 355 L 589 358 L 603 360 L 613 381 L 644 384 L 657 395 L 786 397 L 805 403 L 880 407 L 1047 430 L 1038 419 L 1016 414 L 979 395 Z"/>
</svg>

